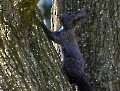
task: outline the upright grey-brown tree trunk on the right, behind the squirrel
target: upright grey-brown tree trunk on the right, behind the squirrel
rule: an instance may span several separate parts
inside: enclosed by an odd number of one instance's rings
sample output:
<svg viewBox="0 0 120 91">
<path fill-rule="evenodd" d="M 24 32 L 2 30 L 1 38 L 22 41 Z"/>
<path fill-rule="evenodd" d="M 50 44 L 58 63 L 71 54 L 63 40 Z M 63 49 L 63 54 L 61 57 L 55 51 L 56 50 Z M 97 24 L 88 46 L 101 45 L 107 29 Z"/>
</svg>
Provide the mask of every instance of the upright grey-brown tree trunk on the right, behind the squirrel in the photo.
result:
<svg viewBox="0 0 120 91">
<path fill-rule="evenodd" d="M 80 23 L 76 30 L 86 75 L 96 91 L 119 91 L 120 1 L 54 1 L 59 6 L 54 9 L 58 11 L 56 15 L 72 13 L 80 8 L 86 9 L 89 19 Z"/>
</svg>

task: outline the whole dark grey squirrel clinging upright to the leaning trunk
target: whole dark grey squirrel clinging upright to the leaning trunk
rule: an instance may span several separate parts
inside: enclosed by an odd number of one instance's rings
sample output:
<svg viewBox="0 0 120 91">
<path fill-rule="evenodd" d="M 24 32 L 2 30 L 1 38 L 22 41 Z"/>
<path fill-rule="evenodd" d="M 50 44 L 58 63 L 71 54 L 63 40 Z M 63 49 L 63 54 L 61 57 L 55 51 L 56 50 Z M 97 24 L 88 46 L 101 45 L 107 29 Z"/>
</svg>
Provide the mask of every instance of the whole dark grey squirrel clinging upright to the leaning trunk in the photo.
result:
<svg viewBox="0 0 120 91">
<path fill-rule="evenodd" d="M 75 38 L 75 29 L 78 23 L 86 18 L 84 9 L 78 10 L 73 14 L 60 15 L 62 28 L 52 32 L 41 23 L 48 39 L 58 43 L 61 46 L 64 55 L 62 69 L 67 75 L 70 84 L 75 83 L 79 91 L 93 91 L 85 77 L 84 62 L 78 43 Z"/>
</svg>

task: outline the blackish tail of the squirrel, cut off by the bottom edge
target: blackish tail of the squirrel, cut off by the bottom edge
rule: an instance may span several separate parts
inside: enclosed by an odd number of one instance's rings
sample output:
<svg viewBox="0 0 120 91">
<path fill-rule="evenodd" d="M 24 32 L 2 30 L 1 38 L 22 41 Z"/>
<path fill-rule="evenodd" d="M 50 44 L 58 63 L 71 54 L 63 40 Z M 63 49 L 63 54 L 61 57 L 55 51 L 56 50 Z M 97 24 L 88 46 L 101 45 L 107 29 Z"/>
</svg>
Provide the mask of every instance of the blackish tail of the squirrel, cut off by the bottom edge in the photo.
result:
<svg viewBox="0 0 120 91">
<path fill-rule="evenodd" d="M 78 91 L 93 91 L 93 88 L 85 77 L 80 78 L 76 84 L 78 86 Z"/>
</svg>

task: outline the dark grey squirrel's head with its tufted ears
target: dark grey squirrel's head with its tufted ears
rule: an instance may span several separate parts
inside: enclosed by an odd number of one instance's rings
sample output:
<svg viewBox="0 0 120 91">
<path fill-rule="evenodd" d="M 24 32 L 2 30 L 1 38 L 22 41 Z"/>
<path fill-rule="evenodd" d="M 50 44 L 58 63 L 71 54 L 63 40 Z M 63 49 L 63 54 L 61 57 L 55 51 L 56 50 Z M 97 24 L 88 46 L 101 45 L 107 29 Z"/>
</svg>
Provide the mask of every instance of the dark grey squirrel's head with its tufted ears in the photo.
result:
<svg viewBox="0 0 120 91">
<path fill-rule="evenodd" d="M 62 14 L 59 17 L 61 25 L 66 29 L 74 28 L 85 18 L 87 18 L 87 16 L 85 15 L 84 9 L 78 10 L 73 14 Z"/>
</svg>

